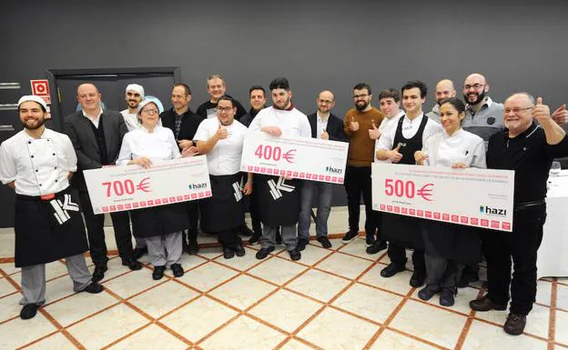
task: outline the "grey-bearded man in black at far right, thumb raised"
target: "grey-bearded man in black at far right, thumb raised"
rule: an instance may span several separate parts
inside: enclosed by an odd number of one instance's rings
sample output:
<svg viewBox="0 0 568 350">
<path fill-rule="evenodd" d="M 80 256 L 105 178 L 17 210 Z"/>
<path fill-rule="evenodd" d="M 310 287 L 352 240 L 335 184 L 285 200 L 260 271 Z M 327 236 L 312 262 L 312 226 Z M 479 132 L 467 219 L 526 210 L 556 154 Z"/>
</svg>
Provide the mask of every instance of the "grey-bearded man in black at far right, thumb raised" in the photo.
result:
<svg viewBox="0 0 568 350">
<path fill-rule="evenodd" d="M 505 100 L 503 119 L 505 129 L 489 139 L 487 167 L 515 172 L 512 232 L 485 230 L 482 235 L 487 294 L 470 306 L 479 312 L 506 310 L 511 300 L 503 329 L 521 335 L 536 296 L 548 171 L 554 157 L 568 155 L 568 138 L 540 97 L 535 101 L 526 93 L 511 95 Z"/>
</svg>

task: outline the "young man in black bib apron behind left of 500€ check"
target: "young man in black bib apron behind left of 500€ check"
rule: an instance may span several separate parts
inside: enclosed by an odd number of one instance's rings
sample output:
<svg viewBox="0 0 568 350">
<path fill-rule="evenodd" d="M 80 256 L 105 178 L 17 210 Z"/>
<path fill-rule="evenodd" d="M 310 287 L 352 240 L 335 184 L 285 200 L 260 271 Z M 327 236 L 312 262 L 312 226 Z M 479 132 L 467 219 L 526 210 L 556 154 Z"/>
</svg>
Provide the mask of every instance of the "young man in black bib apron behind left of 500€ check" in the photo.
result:
<svg viewBox="0 0 568 350">
<path fill-rule="evenodd" d="M 379 160 L 390 159 L 392 164 L 414 165 L 414 153 L 422 149 L 422 145 L 431 135 L 443 130 L 440 124 L 422 112 L 426 93 L 426 85 L 418 80 L 402 86 L 402 105 L 404 105 L 406 115 L 402 115 L 398 123 L 392 124 L 380 135 L 376 153 Z M 388 255 L 391 258 L 391 264 L 383 268 L 380 275 L 391 277 L 403 271 L 407 260 L 405 248 L 411 248 L 414 249 L 412 253 L 414 272 L 411 276 L 411 285 L 414 287 L 423 285 L 426 278 L 426 267 L 419 219 L 384 213 L 381 231 L 384 238 L 390 241 Z"/>
</svg>

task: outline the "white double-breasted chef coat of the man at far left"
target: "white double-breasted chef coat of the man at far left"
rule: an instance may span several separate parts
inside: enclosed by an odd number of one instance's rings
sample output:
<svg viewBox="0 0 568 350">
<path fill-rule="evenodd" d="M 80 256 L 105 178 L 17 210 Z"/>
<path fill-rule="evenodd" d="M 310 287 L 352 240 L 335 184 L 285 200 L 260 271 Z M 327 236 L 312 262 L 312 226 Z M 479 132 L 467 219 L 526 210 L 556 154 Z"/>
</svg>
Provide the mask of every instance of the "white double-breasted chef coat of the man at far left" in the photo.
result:
<svg viewBox="0 0 568 350">
<path fill-rule="evenodd" d="M 67 175 L 76 172 L 76 154 L 65 134 L 45 129 L 35 139 L 25 130 L 0 145 L 0 181 L 15 181 L 18 195 L 49 195 L 69 186 Z"/>
</svg>

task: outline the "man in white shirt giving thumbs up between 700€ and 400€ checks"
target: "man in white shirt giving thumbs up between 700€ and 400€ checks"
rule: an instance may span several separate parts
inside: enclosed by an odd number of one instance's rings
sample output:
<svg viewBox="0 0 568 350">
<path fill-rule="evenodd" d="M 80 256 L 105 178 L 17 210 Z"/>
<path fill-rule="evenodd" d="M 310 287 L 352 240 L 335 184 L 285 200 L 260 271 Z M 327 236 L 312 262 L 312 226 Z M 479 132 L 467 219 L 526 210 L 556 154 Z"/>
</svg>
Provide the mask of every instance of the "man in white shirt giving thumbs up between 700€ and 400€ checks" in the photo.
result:
<svg viewBox="0 0 568 350">
<path fill-rule="evenodd" d="M 243 196 L 252 192 L 252 175 L 241 190 L 240 158 L 247 126 L 235 120 L 237 106 L 231 97 L 218 99 L 217 118 L 205 119 L 193 139 L 200 155 L 207 155 L 212 197 L 201 201 L 203 231 L 218 234 L 223 256 L 245 255 L 237 232 L 245 223 Z M 242 194 L 241 194 L 242 192 Z"/>
</svg>

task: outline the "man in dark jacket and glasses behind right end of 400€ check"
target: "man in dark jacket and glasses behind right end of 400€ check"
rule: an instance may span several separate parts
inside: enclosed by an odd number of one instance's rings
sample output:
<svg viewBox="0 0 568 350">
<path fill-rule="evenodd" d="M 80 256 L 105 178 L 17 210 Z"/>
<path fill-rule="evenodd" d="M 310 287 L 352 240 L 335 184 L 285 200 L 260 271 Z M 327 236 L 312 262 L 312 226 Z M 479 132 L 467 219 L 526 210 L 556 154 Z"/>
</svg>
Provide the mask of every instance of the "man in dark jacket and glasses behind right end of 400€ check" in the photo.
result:
<svg viewBox="0 0 568 350">
<path fill-rule="evenodd" d="M 330 113 L 335 105 L 335 96 L 330 91 L 322 91 L 316 98 L 318 111 L 308 115 L 311 137 L 323 140 L 346 142 L 343 134 L 343 121 Z M 324 248 L 330 248 L 328 239 L 328 217 L 331 210 L 333 184 L 306 180 L 300 193 L 300 212 L 298 221 L 298 249 L 304 250 L 309 241 L 309 215 L 312 198 L 318 192 L 318 215 L 316 216 L 316 235 Z"/>
</svg>

